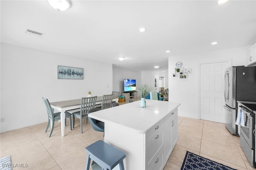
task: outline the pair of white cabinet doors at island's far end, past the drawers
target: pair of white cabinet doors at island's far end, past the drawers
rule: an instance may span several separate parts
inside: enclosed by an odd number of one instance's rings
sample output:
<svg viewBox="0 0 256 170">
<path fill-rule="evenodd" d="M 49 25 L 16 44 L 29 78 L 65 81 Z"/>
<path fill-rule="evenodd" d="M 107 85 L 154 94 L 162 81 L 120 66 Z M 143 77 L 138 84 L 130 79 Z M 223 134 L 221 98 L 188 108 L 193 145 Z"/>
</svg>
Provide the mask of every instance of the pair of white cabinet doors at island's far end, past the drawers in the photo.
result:
<svg viewBox="0 0 256 170">
<path fill-rule="evenodd" d="M 168 161 L 178 139 L 178 109 L 169 113 L 165 121 L 164 131 L 164 162 Z"/>
</svg>

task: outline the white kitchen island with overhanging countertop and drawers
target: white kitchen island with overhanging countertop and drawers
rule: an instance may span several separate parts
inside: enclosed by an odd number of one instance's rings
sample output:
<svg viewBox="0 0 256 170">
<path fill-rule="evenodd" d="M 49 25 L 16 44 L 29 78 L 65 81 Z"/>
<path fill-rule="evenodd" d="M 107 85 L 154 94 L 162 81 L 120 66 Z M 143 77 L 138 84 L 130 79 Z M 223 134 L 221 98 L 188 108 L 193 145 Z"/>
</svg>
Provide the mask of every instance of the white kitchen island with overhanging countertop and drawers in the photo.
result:
<svg viewBox="0 0 256 170">
<path fill-rule="evenodd" d="M 104 141 L 126 153 L 125 170 L 162 170 L 178 139 L 180 103 L 146 100 L 96 111 L 105 122 Z"/>
</svg>

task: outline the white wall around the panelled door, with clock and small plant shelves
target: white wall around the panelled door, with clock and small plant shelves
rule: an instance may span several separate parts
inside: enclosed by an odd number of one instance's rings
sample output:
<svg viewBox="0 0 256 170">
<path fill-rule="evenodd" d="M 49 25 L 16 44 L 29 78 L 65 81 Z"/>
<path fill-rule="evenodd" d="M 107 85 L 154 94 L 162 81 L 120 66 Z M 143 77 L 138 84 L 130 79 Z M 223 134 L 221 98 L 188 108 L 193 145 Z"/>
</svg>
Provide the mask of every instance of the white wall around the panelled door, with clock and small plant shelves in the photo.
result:
<svg viewBox="0 0 256 170">
<path fill-rule="evenodd" d="M 178 114 L 180 116 L 198 119 L 198 65 L 203 62 L 222 61 L 232 59 L 232 66 L 246 64 L 246 50 L 249 46 L 222 51 L 212 51 L 198 55 L 169 57 L 169 101 L 180 102 Z M 175 64 L 181 61 L 184 68 L 191 68 L 187 78 L 173 77 Z"/>
</svg>

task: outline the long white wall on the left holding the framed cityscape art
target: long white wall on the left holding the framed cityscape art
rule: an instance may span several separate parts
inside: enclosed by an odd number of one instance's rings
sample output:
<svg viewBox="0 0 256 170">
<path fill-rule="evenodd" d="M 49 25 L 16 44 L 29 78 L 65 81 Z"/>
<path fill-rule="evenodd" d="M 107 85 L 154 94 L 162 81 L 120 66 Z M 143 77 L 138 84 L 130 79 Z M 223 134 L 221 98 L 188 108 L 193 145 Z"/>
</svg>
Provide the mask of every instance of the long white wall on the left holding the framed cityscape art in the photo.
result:
<svg viewBox="0 0 256 170">
<path fill-rule="evenodd" d="M 84 68 L 83 80 L 57 78 L 57 66 Z M 1 43 L 0 132 L 48 121 L 50 102 L 112 93 L 112 64 Z M 104 70 L 104 72 L 102 71 Z"/>
</svg>

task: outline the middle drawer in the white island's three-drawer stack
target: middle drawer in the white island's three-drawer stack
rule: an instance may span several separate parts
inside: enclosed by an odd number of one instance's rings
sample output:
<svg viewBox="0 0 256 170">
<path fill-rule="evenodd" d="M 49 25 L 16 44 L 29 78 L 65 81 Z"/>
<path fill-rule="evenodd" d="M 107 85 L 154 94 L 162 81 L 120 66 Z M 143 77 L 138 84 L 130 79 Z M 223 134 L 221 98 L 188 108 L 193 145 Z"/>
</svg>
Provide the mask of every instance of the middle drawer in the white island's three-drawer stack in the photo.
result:
<svg viewBox="0 0 256 170">
<path fill-rule="evenodd" d="M 152 164 L 156 154 L 164 147 L 164 128 L 160 130 L 146 145 L 146 167 Z M 161 151 L 162 152 L 162 151 Z M 148 168 L 146 168 L 148 169 Z"/>
</svg>

